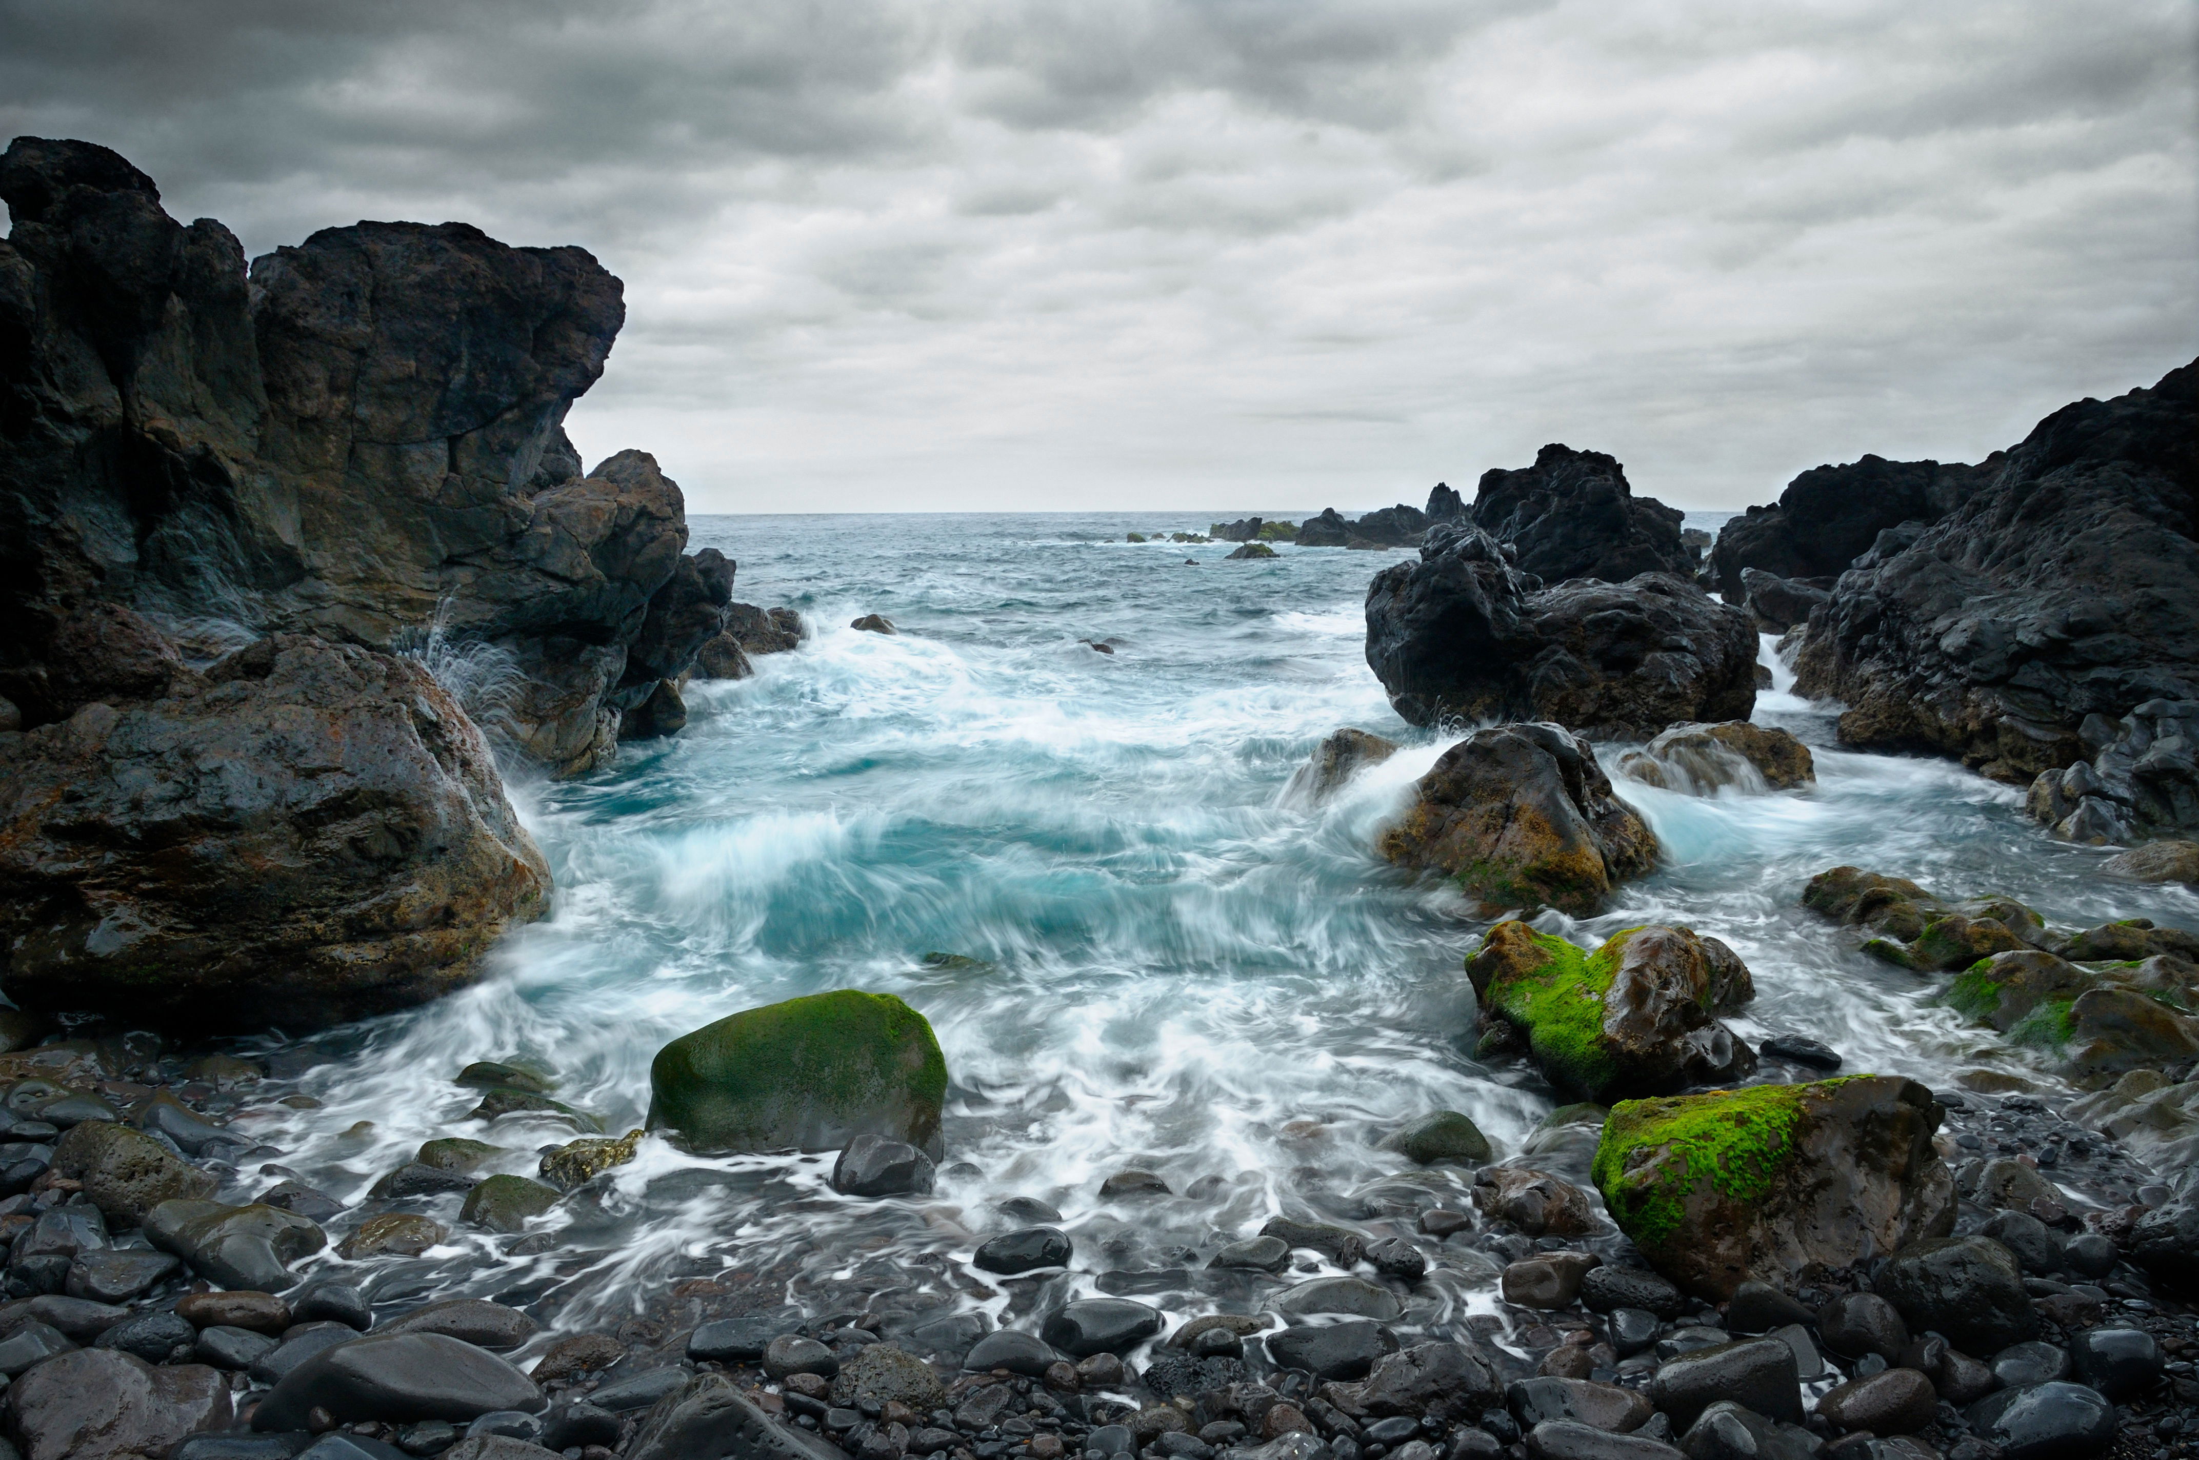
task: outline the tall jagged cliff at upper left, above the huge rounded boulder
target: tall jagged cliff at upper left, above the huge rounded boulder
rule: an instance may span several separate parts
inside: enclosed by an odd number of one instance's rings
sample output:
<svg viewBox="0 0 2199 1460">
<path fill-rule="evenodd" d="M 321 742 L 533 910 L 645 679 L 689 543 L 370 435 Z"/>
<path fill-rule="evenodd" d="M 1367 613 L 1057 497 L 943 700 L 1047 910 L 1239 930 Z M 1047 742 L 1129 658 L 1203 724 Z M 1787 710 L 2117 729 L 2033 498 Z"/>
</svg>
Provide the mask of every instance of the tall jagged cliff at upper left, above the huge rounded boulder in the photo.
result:
<svg viewBox="0 0 2199 1460">
<path fill-rule="evenodd" d="M 732 565 L 682 567 L 677 484 L 633 451 L 583 475 L 561 429 L 625 321 L 585 251 L 369 222 L 246 281 L 226 229 L 70 141 L 18 139 L 0 198 L 0 695 L 22 723 L 150 688 L 75 653 L 121 605 L 198 664 L 275 629 L 493 649 L 517 688 L 490 728 L 574 774 L 710 638 Z"/>
</svg>

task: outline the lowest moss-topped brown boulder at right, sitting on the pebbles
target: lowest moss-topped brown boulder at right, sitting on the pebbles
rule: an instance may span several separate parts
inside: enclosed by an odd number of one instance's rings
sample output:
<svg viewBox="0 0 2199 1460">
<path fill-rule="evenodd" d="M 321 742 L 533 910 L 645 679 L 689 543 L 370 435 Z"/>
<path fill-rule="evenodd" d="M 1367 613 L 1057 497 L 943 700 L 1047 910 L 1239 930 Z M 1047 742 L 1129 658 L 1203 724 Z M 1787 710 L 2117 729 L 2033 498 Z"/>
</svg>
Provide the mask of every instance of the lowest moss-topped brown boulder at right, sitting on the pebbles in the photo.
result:
<svg viewBox="0 0 2199 1460">
<path fill-rule="evenodd" d="M 1931 1091 L 1889 1075 L 1623 1102 L 1594 1179 L 1612 1220 L 1682 1288 L 1792 1291 L 1953 1229 L 1937 1126 Z"/>
</svg>

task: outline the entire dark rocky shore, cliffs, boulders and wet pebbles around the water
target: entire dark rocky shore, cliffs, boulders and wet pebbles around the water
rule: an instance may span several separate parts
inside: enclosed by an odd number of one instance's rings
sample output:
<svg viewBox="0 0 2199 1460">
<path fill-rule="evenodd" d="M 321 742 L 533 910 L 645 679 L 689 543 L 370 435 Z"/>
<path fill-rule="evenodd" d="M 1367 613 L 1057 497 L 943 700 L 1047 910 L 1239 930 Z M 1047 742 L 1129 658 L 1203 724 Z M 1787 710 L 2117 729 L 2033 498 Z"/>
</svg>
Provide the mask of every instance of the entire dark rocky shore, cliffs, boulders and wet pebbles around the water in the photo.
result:
<svg viewBox="0 0 2199 1460">
<path fill-rule="evenodd" d="M 88 143 L 18 139 L 0 196 L 24 1460 L 2199 1453 L 2199 934 L 1854 866 L 1797 891 L 2047 1051 L 2082 1091 L 2049 1104 L 1750 1044 L 1750 970 L 1691 928 L 1552 930 L 1662 855 L 1623 783 L 1810 785 L 1810 750 L 1748 723 L 1759 631 L 1854 706 L 1843 743 L 2030 783 L 2071 840 L 2199 825 L 2195 367 L 1979 466 L 1805 473 L 1709 565 L 1614 457 L 1559 444 L 1471 504 L 1214 526 L 1247 561 L 1416 550 L 1368 589 L 1368 666 L 1410 723 L 1478 728 L 1370 853 L 1476 912 L 1458 1038 L 1572 1102 L 1517 1150 L 1458 1110 L 1306 1119 L 1286 1212 L 1143 1168 L 1067 1212 L 972 1209 L 928 1020 L 838 989 L 664 1044 L 625 1132 L 482 1049 L 451 1130 L 332 1194 L 255 1135 L 312 1108 L 310 1058 L 176 1040 L 462 987 L 552 897 L 499 756 L 598 770 L 805 624 L 732 600 L 647 453 L 583 471 L 561 422 L 622 321 L 587 253 L 356 224 L 246 266 Z M 1607 770 L 1599 741 L 1638 748 Z M 1341 730 L 1293 796 L 1394 750 Z M 2190 880 L 2186 849 L 2122 871 Z M 1328 1190 L 1319 1152 L 1361 1135 L 1392 1170 Z M 853 1220 L 715 1231 L 576 1299 L 651 1209 L 739 1183 Z"/>
</svg>

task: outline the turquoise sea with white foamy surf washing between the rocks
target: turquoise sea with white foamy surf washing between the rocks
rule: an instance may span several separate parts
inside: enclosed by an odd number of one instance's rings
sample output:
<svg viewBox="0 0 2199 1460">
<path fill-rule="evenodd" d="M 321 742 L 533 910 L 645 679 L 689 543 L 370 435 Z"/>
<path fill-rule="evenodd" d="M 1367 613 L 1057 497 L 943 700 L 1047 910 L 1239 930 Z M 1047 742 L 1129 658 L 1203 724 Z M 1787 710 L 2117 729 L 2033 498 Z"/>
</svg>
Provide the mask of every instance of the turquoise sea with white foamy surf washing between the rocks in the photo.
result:
<svg viewBox="0 0 2199 1460">
<path fill-rule="evenodd" d="M 946 1049 L 939 1194 L 849 1203 L 822 1183 L 829 1159 L 693 1161 L 647 1141 L 605 1201 L 550 1218 L 559 1251 L 510 1256 L 453 1223 L 427 1258 L 354 1275 L 383 1295 L 530 1297 L 581 1326 L 759 1262 L 792 1273 L 789 1302 L 822 1302 L 869 1282 L 855 1253 L 884 1247 L 935 1258 L 899 1280 L 1001 1313 L 1009 1299 L 985 1297 L 965 1262 L 998 1227 L 990 1203 L 1023 1194 L 1078 1238 L 1056 1293 L 1130 1282 L 1194 1313 L 1229 1293 L 1170 1273 L 1220 1240 L 1275 1212 L 1379 1214 L 1366 1187 L 1401 1161 L 1372 1139 L 1410 1115 L 1465 1110 L 1520 1152 L 1555 1102 L 1533 1073 L 1471 1058 L 1460 961 L 1484 923 L 1370 853 L 1447 743 L 1392 715 L 1361 655 L 1366 583 L 1399 554 L 1225 563 L 1227 545 L 1121 541 L 1214 517 L 697 519 L 693 545 L 739 561 L 737 596 L 794 605 L 811 638 L 759 657 L 752 679 L 690 686 L 677 739 L 627 745 L 587 781 L 515 783 L 556 873 L 552 917 L 479 987 L 303 1047 L 325 1058 L 303 1077 L 323 1106 L 255 1130 L 361 1198 L 422 1139 L 479 1135 L 460 1121 L 475 1093 L 449 1084 L 471 1060 L 548 1064 L 561 1097 L 616 1132 L 640 1124 L 664 1040 L 864 987 L 921 1009 Z M 847 629 L 873 611 L 902 633 Z M 2047 840 L 2010 787 L 1830 750 L 1830 712 L 1783 690 L 1757 719 L 1819 745 L 1814 789 L 1618 783 L 1665 869 L 1605 917 L 1544 926 L 1590 943 L 1640 921 L 1717 934 L 1755 972 L 1744 1036 L 1808 1033 L 1847 1069 L 1935 1084 L 1973 1066 L 2047 1077 L 1935 1007 L 1935 983 L 1803 915 L 1812 873 L 1854 862 L 2074 923 L 2199 926 L 2186 891 L 2096 877 L 2104 853 Z M 1324 807 L 1293 805 L 1291 772 L 1339 726 L 1405 750 Z M 926 952 L 983 967 L 928 967 Z M 490 1139 L 510 1148 L 499 1170 L 532 1172 L 567 1135 L 506 1119 Z M 1579 1152 L 1541 1159 L 1579 1170 Z M 1100 1181 L 1132 1165 L 1179 1196 L 1100 1203 Z M 1462 1253 L 1429 1291 L 1438 1308 L 1493 1306 L 1493 1267 Z"/>
</svg>

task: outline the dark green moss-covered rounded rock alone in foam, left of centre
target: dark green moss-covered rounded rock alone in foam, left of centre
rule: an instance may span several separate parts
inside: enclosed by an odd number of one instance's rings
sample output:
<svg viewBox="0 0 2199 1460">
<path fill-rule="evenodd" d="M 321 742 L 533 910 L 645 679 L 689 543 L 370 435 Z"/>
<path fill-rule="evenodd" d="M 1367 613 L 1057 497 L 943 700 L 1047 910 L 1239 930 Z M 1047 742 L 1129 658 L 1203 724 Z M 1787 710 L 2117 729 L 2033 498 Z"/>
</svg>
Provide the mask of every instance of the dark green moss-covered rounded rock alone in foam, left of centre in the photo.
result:
<svg viewBox="0 0 2199 1460">
<path fill-rule="evenodd" d="M 946 1055 L 893 994 L 836 989 L 721 1018 L 660 1049 L 649 1091 L 649 1128 L 699 1150 L 840 1150 L 880 1135 L 946 1154 Z"/>
</svg>

